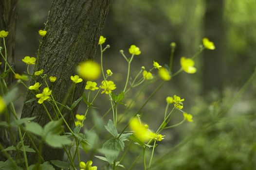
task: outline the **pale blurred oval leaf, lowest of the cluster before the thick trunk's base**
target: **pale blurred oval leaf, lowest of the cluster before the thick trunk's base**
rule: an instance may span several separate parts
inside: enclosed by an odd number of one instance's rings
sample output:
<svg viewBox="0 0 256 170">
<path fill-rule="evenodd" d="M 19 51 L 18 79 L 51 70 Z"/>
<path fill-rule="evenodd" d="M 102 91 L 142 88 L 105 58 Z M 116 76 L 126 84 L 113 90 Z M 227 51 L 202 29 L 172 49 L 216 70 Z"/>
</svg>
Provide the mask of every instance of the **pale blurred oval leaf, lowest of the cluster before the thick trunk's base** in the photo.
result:
<svg viewBox="0 0 256 170">
<path fill-rule="evenodd" d="M 62 145 L 69 145 L 72 143 L 67 136 L 59 136 L 49 134 L 45 137 L 45 142 L 53 148 L 62 148 Z"/>
</svg>

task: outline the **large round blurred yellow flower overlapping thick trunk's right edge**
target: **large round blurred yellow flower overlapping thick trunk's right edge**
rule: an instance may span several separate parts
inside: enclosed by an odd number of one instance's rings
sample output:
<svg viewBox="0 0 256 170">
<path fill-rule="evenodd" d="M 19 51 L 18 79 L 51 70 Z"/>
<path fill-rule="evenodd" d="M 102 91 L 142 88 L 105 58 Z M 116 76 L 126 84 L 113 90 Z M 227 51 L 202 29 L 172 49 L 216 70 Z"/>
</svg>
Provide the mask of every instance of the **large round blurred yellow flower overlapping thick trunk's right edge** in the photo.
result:
<svg viewBox="0 0 256 170">
<path fill-rule="evenodd" d="M 77 66 L 77 72 L 85 80 L 93 81 L 99 78 L 101 68 L 98 63 L 95 63 L 92 60 L 87 60 Z"/>
</svg>

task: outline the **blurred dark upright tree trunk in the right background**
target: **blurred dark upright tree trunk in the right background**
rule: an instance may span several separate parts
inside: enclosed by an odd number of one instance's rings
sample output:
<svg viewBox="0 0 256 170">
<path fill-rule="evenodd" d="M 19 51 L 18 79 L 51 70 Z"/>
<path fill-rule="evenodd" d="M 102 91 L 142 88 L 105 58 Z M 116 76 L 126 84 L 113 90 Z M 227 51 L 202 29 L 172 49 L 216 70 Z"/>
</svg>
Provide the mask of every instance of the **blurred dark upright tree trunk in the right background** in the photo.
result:
<svg viewBox="0 0 256 170">
<path fill-rule="evenodd" d="M 203 52 L 203 86 L 204 92 L 221 91 L 222 88 L 222 41 L 223 41 L 223 9 L 224 0 L 205 0 L 206 13 L 204 18 L 205 36 L 215 43 L 216 49 Z"/>
</svg>

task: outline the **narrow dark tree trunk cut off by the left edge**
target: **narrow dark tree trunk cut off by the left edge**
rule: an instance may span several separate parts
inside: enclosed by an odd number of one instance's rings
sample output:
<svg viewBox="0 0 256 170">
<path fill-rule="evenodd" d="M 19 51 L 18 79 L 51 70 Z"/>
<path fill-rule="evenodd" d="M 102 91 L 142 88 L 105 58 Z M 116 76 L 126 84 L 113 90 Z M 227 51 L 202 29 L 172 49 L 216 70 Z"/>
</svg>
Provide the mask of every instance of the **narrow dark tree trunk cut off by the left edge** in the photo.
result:
<svg viewBox="0 0 256 170">
<path fill-rule="evenodd" d="M 15 28 L 16 28 L 16 20 L 18 15 L 18 0 L 0 0 L 0 31 L 5 30 L 9 32 L 9 35 L 5 38 L 5 45 L 7 48 L 7 60 L 8 62 L 14 66 L 15 64 Z M 0 39 L 0 47 L 3 47 L 2 38 Z M 4 53 L 4 51 L 2 51 Z M 0 72 L 4 71 L 4 61 L 0 57 L 0 62 L 2 62 L 0 66 Z M 13 82 L 13 74 L 8 74 L 6 77 L 6 83 L 10 85 Z M 5 121 L 4 115 L 0 117 L 0 121 Z M 5 129 L 0 129 L 0 143 L 4 147 L 10 146 L 9 142 L 9 133 L 6 132 Z M 0 160 L 4 160 L 0 153 Z"/>
</svg>

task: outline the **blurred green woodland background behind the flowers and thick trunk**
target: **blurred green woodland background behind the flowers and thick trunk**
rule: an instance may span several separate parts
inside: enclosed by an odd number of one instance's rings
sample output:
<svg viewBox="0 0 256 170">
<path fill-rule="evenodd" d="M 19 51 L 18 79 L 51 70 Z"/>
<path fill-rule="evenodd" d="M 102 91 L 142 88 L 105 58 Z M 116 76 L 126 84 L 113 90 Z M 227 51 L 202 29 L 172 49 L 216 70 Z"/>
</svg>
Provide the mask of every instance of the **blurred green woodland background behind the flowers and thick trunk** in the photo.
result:
<svg viewBox="0 0 256 170">
<path fill-rule="evenodd" d="M 25 70 L 21 63 L 24 56 L 36 55 L 37 31 L 44 28 L 51 2 L 18 2 L 18 72 Z M 127 72 L 127 63 L 119 50 L 128 55 L 131 44 L 140 47 L 142 54 L 135 57 L 131 66 L 134 76 L 141 66 L 151 68 L 153 60 L 168 64 L 171 42 L 177 44 L 174 70 L 180 68 L 181 56 L 191 57 L 198 51 L 203 37 L 215 42 L 215 51 L 204 51 L 196 58 L 196 74 L 182 72 L 173 78 L 144 109 L 142 120 L 152 130 L 163 119 L 167 96 L 177 94 L 184 98 L 183 110 L 194 116 L 193 123 L 186 122 L 163 132 L 165 139 L 156 148 L 152 169 L 255 169 L 256 79 L 243 88 L 237 100 L 230 101 L 236 99 L 256 67 L 256 0 L 113 0 L 102 35 L 107 37 L 106 44 L 110 44 L 104 54 L 104 67 L 114 73 L 116 92 L 122 90 Z M 95 60 L 99 61 L 99 53 Z M 133 111 L 156 85 L 145 90 Z M 107 98 L 97 100 L 95 105 L 101 108 L 95 111 L 100 115 L 110 106 Z M 84 112 L 84 108 L 81 105 L 79 112 Z M 182 114 L 175 113 L 171 124 L 180 120 Z M 138 155 L 136 147 L 131 150 L 123 162 L 125 167 Z M 95 164 L 101 163 L 97 161 Z M 142 169 L 141 161 L 134 169 Z"/>
</svg>

